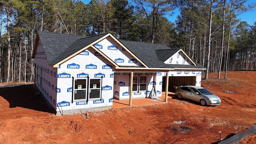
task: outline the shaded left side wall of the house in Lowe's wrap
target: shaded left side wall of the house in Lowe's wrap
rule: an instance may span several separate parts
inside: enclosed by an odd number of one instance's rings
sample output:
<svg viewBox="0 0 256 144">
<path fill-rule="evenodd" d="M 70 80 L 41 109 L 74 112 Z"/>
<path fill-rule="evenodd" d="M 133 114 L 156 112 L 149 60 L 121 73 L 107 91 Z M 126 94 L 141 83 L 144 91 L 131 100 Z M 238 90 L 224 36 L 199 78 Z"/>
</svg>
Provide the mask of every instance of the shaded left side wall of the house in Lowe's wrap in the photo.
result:
<svg viewBox="0 0 256 144">
<path fill-rule="evenodd" d="M 38 43 L 34 62 L 37 69 L 36 86 L 39 88 L 48 102 L 52 105 L 52 107 L 56 109 L 57 68 L 48 66 L 41 42 Z"/>
</svg>

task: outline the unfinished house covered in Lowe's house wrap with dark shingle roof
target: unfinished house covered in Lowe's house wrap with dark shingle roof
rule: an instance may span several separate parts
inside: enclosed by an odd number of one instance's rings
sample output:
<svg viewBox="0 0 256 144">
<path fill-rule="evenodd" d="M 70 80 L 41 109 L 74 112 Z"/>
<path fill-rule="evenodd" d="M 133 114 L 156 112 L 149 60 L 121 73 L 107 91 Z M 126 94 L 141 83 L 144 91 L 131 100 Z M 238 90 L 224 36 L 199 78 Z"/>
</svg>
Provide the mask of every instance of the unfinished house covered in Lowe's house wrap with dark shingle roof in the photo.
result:
<svg viewBox="0 0 256 144">
<path fill-rule="evenodd" d="M 38 32 L 32 57 L 36 86 L 56 114 L 108 109 L 113 98 L 147 98 L 153 87 L 159 97 L 166 85 L 200 86 L 205 69 L 181 49 L 111 34 Z"/>
</svg>

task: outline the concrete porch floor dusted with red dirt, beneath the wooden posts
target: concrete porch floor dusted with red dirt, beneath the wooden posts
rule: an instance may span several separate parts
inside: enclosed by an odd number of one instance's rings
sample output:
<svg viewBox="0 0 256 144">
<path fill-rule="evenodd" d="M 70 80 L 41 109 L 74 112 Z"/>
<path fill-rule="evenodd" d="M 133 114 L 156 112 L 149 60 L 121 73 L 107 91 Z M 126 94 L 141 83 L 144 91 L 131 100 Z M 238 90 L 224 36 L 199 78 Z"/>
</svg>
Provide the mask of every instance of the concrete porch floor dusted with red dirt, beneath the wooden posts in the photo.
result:
<svg viewBox="0 0 256 144">
<path fill-rule="evenodd" d="M 168 92 L 168 97 L 174 94 L 173 92 Z M 167 97 L 167 98 L 168 98 Z M 165 101 L 165 92 L 162 92 L 162 97 L 158 97 L 159 99 L 150 99 L 150 98 L 136 98 L 132 99 L 132 106 L 129 105 L 130 100 L 113 100 L 114 109 L 119 108 L 129 108 L 129 107 L 136 107 L 136 106 L 150 106 L 156 104 L 166 104 L 168 102 Z"/>
</svg>

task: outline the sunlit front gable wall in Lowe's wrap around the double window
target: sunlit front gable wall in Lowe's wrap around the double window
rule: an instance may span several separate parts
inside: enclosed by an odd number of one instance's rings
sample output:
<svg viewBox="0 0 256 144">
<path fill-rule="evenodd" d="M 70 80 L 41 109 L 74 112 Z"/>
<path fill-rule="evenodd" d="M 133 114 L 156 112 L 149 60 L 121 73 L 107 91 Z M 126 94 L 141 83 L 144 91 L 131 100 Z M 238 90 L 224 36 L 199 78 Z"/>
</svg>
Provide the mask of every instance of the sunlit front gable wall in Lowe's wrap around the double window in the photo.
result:
<svg viewBox="0 0 256 144">
<path fill-rule="evenodd" d="M 108 64 L 108 65 L 107 65 Z M 61 110 L 76 110 L 113 105 L 114 72 L 110 62 L 98 56 L 92 48 L 81 52 L 58 68 L 57 107 Z M 74 100 L 72 101 L 72 80 L 102 78 L 101 100 Z M 73 78 L 72 78 L 73 77 Z M 58 110 L 58 109 L 57 109 Z"/>
</svg>

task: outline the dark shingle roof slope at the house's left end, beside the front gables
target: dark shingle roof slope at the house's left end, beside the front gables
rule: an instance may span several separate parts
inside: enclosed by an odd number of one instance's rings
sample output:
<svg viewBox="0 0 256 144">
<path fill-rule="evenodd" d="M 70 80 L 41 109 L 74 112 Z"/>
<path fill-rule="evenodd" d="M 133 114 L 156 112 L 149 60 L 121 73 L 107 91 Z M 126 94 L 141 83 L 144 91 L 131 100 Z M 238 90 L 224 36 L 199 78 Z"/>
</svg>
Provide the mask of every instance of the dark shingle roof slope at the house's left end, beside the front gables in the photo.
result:
<svg viewBox="0 0 256 144">
<path fill-rule="evenodd" d="M 38 31 L 38 35 L 42 42 L 48 63 L 54 65 L 106 34 L 86 37 L 73 34 Z"/>
</svg>

